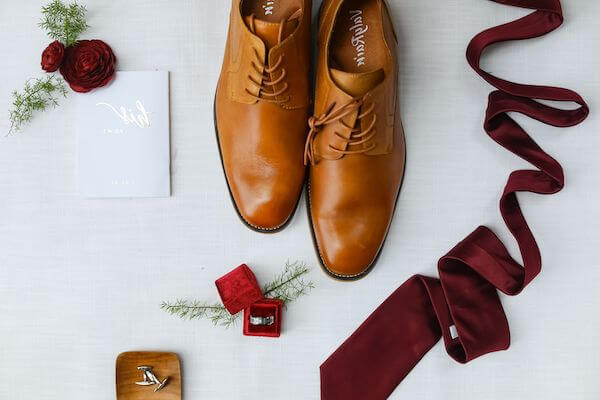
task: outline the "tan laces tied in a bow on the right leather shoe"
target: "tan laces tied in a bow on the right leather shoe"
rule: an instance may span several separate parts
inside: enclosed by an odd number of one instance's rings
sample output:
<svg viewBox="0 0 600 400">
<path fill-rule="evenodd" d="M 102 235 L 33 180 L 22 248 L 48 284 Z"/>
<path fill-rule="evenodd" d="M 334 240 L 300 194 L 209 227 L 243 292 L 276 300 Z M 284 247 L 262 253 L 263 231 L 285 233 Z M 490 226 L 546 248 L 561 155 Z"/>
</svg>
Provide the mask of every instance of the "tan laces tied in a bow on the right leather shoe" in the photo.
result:
<svg viewBox="0 0 600 400">
<path fill-rule="evenodd" d="M 373 137 L 375 137 L 375 122 L 377 121 L 377 114 L 373 114 L 373 119 L 371 123 L 366 129 L 360 128 L 360 121 L 367 117 L 368 115 L 373 113 L 375 109 L 375 102 L 371 102 L 371 104 L 363 110 L 363 106 L 365 105 L 364 98 L 353 99 L 348 103 L 344 104 L 341 107 L 335 108 L 336 103 L 333 102 L 325 112 L 319 117 L 312 116 L 308 119 L 308 126 L 310 127 L 310 131 L 308 132 L 308 137 L 306 139 L 306 144 L 304 146 L 304 165 L 308 165 L 310 162 L 311 165 L 315 164 L 314 160 L 314 150 L 313 150 L 313 142 L 316 138 L 317 133 L 319 133 L 325 125 L 333 124 L 339 122 L 346 129 L 350 130 L 350 137 L 346 138 L 341 135 L 338 131 L 334 131 L 334 134 L 340 138 L 342 141 L 346 143 L 345 149 L 341 150 L 336 148 L 335 146 L 328 144 L 328 147 L 331 151 L 337 154 L 346 155 L 346 154 L 360 154 L 366 153 L 370 150 L 373 150 L 376 146 L 375 142 L 371 142 L 368 146 L 365 146 L 360 149 L 352 150 L 348 149 L 348 147 L 357 146 L 363 143 L 369 142 Z M 350 126 L 344 121 L 344 117 L 352 114 L 355 111 L 361 111 L 360 114 L 356 117 L 355 126 Z"/>
</svg>

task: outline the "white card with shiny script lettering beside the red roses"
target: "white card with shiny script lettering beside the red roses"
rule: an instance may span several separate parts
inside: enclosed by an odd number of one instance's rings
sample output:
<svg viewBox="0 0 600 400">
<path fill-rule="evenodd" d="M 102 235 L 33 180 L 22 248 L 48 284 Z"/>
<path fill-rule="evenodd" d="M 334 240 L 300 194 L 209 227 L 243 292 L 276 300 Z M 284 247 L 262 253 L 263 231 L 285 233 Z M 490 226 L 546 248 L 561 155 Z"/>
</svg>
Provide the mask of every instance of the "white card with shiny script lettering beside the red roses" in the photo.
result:
<svg viewBox="0 0 600 400">
<path fill-rule="evenodd" d="M 169 73 L 118 71 L 74 98 L 82 196 L 170 196 Z"/>
</svg>

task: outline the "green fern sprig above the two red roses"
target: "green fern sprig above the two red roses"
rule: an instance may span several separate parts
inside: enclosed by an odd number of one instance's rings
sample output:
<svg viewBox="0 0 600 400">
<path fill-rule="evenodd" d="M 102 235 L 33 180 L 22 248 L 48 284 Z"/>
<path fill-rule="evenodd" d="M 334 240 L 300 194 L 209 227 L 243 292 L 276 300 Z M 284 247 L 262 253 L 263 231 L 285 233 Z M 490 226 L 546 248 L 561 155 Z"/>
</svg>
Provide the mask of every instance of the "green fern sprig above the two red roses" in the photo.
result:
<svg viewBox="0 0 600 400">
<path fill-rule="evenodd" d="M 50 38 L 58 40 L 65 47 L 71 46 L 79 36 L 89 28 L 85 19 L 85 6 L 73 2 L 65 4 L 53 0 L 42 7 L 42 20 L 39 25 Z"/>
</svg>

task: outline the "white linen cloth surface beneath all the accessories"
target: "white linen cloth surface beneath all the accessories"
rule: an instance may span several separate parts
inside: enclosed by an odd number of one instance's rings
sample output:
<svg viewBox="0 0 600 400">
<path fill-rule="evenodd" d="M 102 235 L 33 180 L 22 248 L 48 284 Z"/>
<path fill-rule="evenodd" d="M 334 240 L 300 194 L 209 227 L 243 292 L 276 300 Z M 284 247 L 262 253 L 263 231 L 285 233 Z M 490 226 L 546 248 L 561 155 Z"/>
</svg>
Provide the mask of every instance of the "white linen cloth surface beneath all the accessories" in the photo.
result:
<svg viewBox="0 0 600 400">
<path fill-rule="evenodd" d="M 12 90 L 43 75 L 50 40 L 37 27 L 42 4 L 0 3 L 0 113 Z M 77 94 L 22 133 L 0 137 L 0 399 L 113 399 L 115 358 L 127 350 L 179 353 L 185 399 L 317 399 L 321 362 L 408 277 L 435 275 L 437 259 L 476 226 L 490 226 L 518 254 L 497 203 L 510 171 L 528 165 L 483 132 L 491 87 L 464 53 L 474 34 L 524 10 L 483 0 L 390 1 L 407 172 L 377 267 L 343 283 L 318 267 L 303 200 L 275 235 L 245 228 L 230 204 L 212 116 L 230 2 L 84 4 L 92 26 L 85 37 L 108 42 L 121 70 L 171 71 L 173 195 L 78 195 Z M 545 262 L 523 294 L 502 297 L 512 346 L 461 366 L 438 344 L 393 399 L 600 398 L 600 2 L 563 7 L 560 30 L 497 46 L 484 61 L 502 77 L 577 90 L 592 110 L 565 130 L 515 117 L 563 164 L 567 186 L 555 196 L 520 196 Z M 314 267 L 316 289 L 287 309 L 279 339 L 159 309 L 179 297 L 217 300 L 214 280 L 242 262 L 264 283 L 287 259 Z"/>
</svg>

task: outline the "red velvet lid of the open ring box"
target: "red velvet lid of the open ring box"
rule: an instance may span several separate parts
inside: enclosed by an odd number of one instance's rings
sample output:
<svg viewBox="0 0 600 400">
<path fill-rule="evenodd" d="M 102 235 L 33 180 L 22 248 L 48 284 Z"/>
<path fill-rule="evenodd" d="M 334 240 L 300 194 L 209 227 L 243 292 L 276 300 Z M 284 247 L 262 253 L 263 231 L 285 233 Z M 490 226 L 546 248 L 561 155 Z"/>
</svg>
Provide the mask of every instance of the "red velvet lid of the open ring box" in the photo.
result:
<svg viewBox="0 0 600 400">
<path fill-rule="evenodd" d="M 215 282 L 223 305 L 231 315 L 262 299 L 262 290 L 246 264 L 242 264 Z"/>
</svg>

